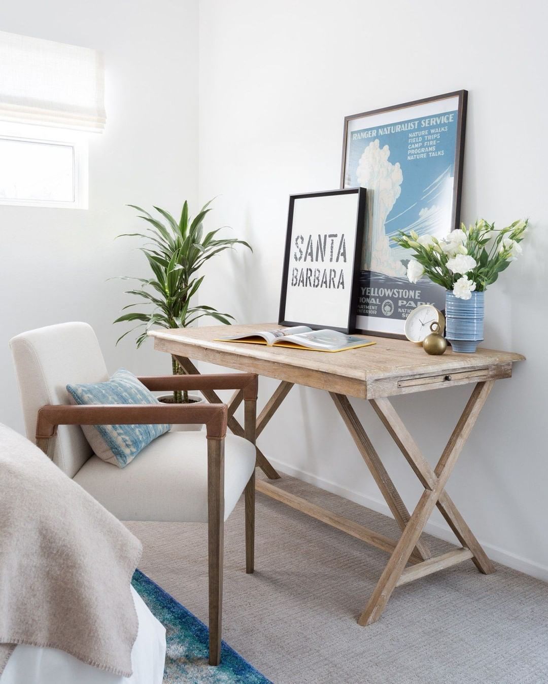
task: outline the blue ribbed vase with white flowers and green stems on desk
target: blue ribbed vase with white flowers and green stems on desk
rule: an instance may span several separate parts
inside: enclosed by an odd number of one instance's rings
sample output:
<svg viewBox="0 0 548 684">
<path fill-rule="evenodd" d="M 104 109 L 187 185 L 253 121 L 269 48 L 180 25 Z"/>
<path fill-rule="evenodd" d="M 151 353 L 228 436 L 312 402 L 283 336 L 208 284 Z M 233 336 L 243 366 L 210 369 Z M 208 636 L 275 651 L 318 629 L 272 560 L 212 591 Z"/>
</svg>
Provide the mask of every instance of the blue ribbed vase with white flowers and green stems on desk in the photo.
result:
<svg viewBox="0 0 548 684">
<path fill-rule="evenodd" d="M 499 274 L 521 254 L 527 220 L 506 228 L 478 220 L 461 224 L 443 240 L 415 231 L 399 231 L 393 240 L 412 251 L 407 277 L 427 276 L 445 287 L 445 326 L 454 352 L 471 354 L 483 339 L 484 294 Z"/>
</svg>

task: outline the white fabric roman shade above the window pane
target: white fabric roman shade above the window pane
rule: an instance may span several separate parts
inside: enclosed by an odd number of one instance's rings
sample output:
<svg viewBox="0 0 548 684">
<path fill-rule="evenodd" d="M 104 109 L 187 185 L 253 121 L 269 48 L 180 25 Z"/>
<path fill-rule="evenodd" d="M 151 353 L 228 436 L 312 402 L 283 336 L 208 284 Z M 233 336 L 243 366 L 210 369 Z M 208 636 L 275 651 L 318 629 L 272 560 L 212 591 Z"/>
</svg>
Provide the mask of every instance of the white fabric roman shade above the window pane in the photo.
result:
<svg viewBox="0 0 548 684">
<path fill-rule="evenodd" d="M 0 120 L 101 133 L 103 55 L 0 31 Z"/>
</svg>

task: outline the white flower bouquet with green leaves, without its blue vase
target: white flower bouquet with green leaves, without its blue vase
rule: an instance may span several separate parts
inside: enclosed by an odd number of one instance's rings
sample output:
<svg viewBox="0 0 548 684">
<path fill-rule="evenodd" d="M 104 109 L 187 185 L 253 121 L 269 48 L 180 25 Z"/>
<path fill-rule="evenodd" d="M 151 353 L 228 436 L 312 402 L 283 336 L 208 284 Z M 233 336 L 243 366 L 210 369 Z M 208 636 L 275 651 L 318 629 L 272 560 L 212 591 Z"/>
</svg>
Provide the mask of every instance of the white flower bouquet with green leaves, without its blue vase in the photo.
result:
<svg viewBox="0 0 548 684">
<path fill-rule="evenodd" d="M 410 282 L 428 276 L 455 297 L 469 300 L 473 291 L 485 291 L 519 257 L 526 228 L 527 220 L 497 229 L 482 219 L 468 228 L 461 224 L 443 240 L 415 231 L 399 231 L 393 240 L 413 250 L 407 265 Z"/>
</svg>

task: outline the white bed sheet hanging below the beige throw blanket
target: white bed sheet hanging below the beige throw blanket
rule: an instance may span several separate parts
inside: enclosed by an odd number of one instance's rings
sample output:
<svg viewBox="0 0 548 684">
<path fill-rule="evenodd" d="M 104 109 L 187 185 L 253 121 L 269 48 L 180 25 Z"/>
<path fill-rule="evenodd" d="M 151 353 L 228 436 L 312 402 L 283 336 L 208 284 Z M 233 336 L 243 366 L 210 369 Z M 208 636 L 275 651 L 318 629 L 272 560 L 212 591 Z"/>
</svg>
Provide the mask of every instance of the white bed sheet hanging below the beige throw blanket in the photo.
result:
<svg viewBox="0 0 548 684">
<path fill-rule="evenodd" d="M 82 663 L 57 648 L 19 644 L 0 676 L 0 684 L 161 684 L 166 659 L 166 629 L 131 587 L 139 618 L 131 650 L 131 677 L 120 677 Z"/>
</svg>

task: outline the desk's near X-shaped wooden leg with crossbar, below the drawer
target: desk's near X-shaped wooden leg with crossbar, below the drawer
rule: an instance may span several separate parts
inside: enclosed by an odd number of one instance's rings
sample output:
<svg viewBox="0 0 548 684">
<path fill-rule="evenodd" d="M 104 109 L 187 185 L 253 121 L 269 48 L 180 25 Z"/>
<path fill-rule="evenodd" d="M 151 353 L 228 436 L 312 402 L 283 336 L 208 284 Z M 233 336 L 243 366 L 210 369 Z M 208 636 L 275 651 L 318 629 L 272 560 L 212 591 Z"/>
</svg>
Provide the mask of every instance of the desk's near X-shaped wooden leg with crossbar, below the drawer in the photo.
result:
<svg viewBox="0 0 548 684">
<path fill-rule="evenodd" d="M 402 536 L 397 542 L 365 610 L 358 620 L 359 624 L 371 624 L 380 618 L 396 586 L 436 572 L 436 570 L 441 568 L 454 565 L 462 560 L 467 560 L 467 558 L 472 558 L 476 566 L 483 573 L 493 572 L 494 568 L 491 561 L 488 560 L 478 540 L 473 536 L 451 499 L 444 492 L 445 485 L 454 469 L 460 451 L 462 451 L 462 447 L 465 445 L 473 425 L 478 419 L 480 410 L 488 394 L 491 392 L 492 386 L 493 380 L 478 382 L 475 386 L 434 471 L 432 471 L 426 460 L 421 456 L 415 442 L 410 439 L 410 435 L 404 428 L 402 421 L 395 414 L 390 402 L 387 399 L 371 401 L 371 404 L 373 404 L 384 425 L 387 426 L 404 456 L 412 464 L 425 490 L 402 532 Z M 436 505 L 443 513 L 449 525 L 451 525 L 463 548 L 406 568 L 409 557 L 413 553 L 413 549 L 421 536 L 424 526 Z"/>
</svg>

